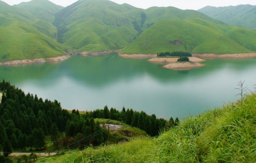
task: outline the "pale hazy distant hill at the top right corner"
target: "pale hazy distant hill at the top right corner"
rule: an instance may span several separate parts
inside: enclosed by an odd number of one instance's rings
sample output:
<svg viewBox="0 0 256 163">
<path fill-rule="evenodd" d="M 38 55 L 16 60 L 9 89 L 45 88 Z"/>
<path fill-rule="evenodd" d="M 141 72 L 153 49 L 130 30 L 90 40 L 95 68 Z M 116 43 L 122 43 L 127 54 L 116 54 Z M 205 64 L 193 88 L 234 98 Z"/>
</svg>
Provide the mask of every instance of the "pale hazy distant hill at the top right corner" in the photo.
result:
<svg viewBox="0 0 256 163">
<path fill-rule="evenodd" d="M 256 30 L 256 6 L 248 4 L 218 8 L 206 6 L 198 11 L 230 25 L 244 26 Z"/>
</svg>

